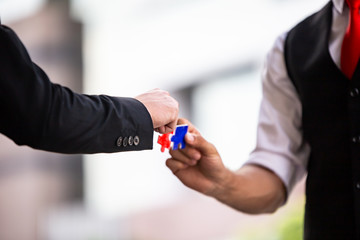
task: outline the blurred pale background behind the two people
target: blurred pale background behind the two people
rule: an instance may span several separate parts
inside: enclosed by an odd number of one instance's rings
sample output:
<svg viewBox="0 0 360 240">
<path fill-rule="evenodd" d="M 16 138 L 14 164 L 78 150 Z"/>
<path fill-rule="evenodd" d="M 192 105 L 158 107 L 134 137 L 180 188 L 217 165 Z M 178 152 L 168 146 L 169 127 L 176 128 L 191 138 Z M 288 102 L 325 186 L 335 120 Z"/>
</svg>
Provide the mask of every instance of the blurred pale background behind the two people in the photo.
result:
<svg viewBox="0 0 360 240">
<path fill-rule="evenodd" d="M 261 68 L 276 37 L 325 0 L 0 0 L 53 82 L 133 97 L 162 88 L 239 168 L 254 147 Z M 0 135 L 0 239 L 296 240 L 304 184 L 249 216 L 184 187 L 154 150 L 61 155 Z"/>
</svg>

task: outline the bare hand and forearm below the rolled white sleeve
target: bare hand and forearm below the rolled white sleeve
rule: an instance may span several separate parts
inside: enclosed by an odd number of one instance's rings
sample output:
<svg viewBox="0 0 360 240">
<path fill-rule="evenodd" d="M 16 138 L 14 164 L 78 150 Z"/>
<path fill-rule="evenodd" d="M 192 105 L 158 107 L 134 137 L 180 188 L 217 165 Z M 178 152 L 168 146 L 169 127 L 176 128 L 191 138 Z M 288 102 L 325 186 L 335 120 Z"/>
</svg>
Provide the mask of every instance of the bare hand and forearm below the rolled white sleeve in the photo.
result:
<svg viewBox="0 0 360 240">
<path fill-rule="evenodd" d="M 284 203 L 286 190 L 276 174 L 257 165 L 228 170 L 216 148 L 190 122 L 178 123 L 189 125 L 186 148 L 170 150 L 166 165 L 184 185 L 246 213 L 274 212 Z"/>
</svg>

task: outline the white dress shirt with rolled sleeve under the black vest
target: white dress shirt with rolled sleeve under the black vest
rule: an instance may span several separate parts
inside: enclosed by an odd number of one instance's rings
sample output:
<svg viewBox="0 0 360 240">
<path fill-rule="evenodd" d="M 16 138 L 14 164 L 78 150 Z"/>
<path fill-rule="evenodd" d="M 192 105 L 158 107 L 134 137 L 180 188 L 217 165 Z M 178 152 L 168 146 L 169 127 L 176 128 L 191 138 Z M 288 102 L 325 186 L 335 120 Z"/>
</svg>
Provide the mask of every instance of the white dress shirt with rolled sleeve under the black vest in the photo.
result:
<svg viewBox="0 0 360 240">
<path fill-rule="evenodd" d="M 340 68 L 341 44 L 348 25 L 349 9 L 344 0 L 332 0 L 333 22 L 329 51 Z M 302 109 L 284 60 L 287 33 L 275 41 L 262 73 L 257 142 L 246 164 L 264 166 L 277 174 L 290 193 L 306 173 L 310 147 L 303 139 Z"/>
</svg>

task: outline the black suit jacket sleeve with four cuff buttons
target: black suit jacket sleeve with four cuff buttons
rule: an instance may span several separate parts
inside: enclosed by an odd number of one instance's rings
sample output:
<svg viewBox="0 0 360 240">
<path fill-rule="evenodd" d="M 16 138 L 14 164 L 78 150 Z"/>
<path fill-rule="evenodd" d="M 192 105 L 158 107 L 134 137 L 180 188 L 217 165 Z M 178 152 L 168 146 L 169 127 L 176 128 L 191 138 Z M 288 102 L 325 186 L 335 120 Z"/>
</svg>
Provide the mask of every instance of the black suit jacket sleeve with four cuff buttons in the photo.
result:
<svg viewBox="0 0 360 240">
<path fill-rule="evenodd" d="M 152 120 L 142 103 L 77 94 L 51 83 L 16 34 L 3 25 L 0 132 L 18 145 L 59 153 L 134 151 L 153 144 Z"/>
</svg>

